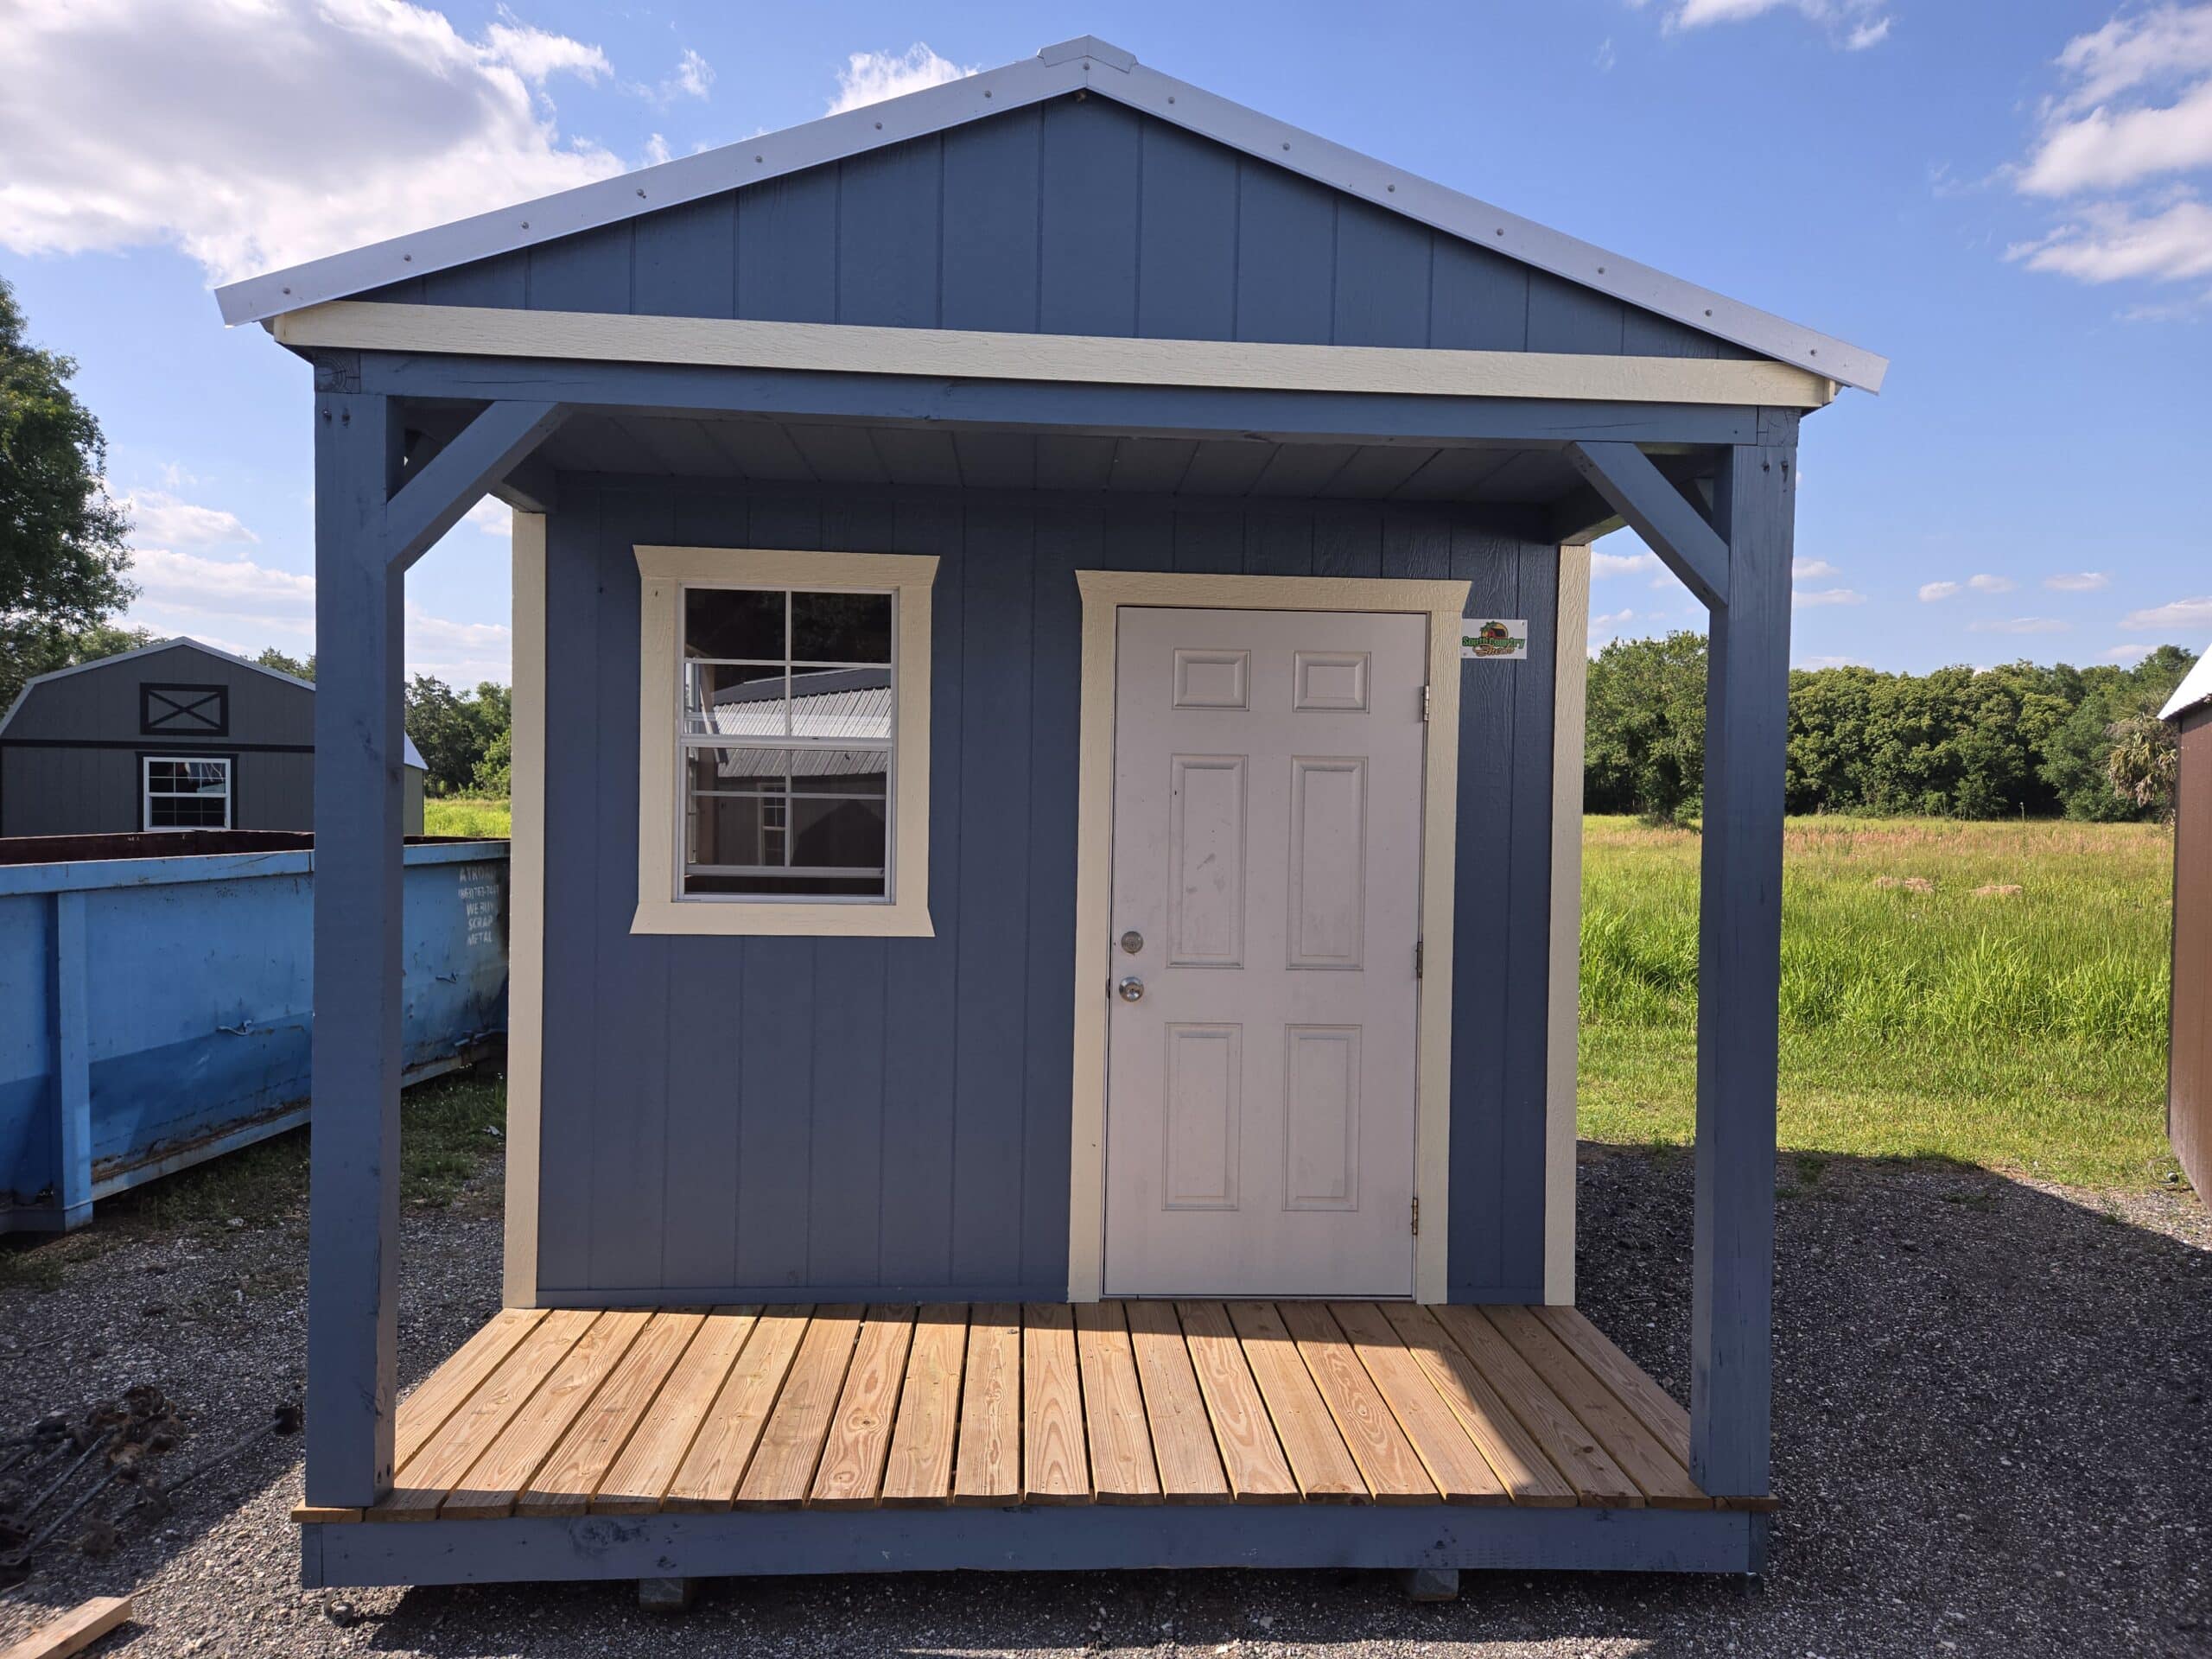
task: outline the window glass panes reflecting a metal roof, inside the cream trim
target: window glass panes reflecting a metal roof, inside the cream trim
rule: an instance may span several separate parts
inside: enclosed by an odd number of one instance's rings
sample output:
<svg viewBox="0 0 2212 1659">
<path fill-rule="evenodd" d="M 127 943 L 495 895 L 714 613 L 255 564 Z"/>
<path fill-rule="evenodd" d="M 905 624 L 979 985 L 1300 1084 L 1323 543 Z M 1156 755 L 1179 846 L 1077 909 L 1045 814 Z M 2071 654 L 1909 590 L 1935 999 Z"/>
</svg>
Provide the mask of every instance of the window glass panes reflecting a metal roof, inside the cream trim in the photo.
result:
<svg viewBox="0 0 2212 1659">
<path fill-rule="evenodd" d="M 887 593 L 686 591 L 684 896 L 891 896 L 894 611 Z"/>
</svg>

